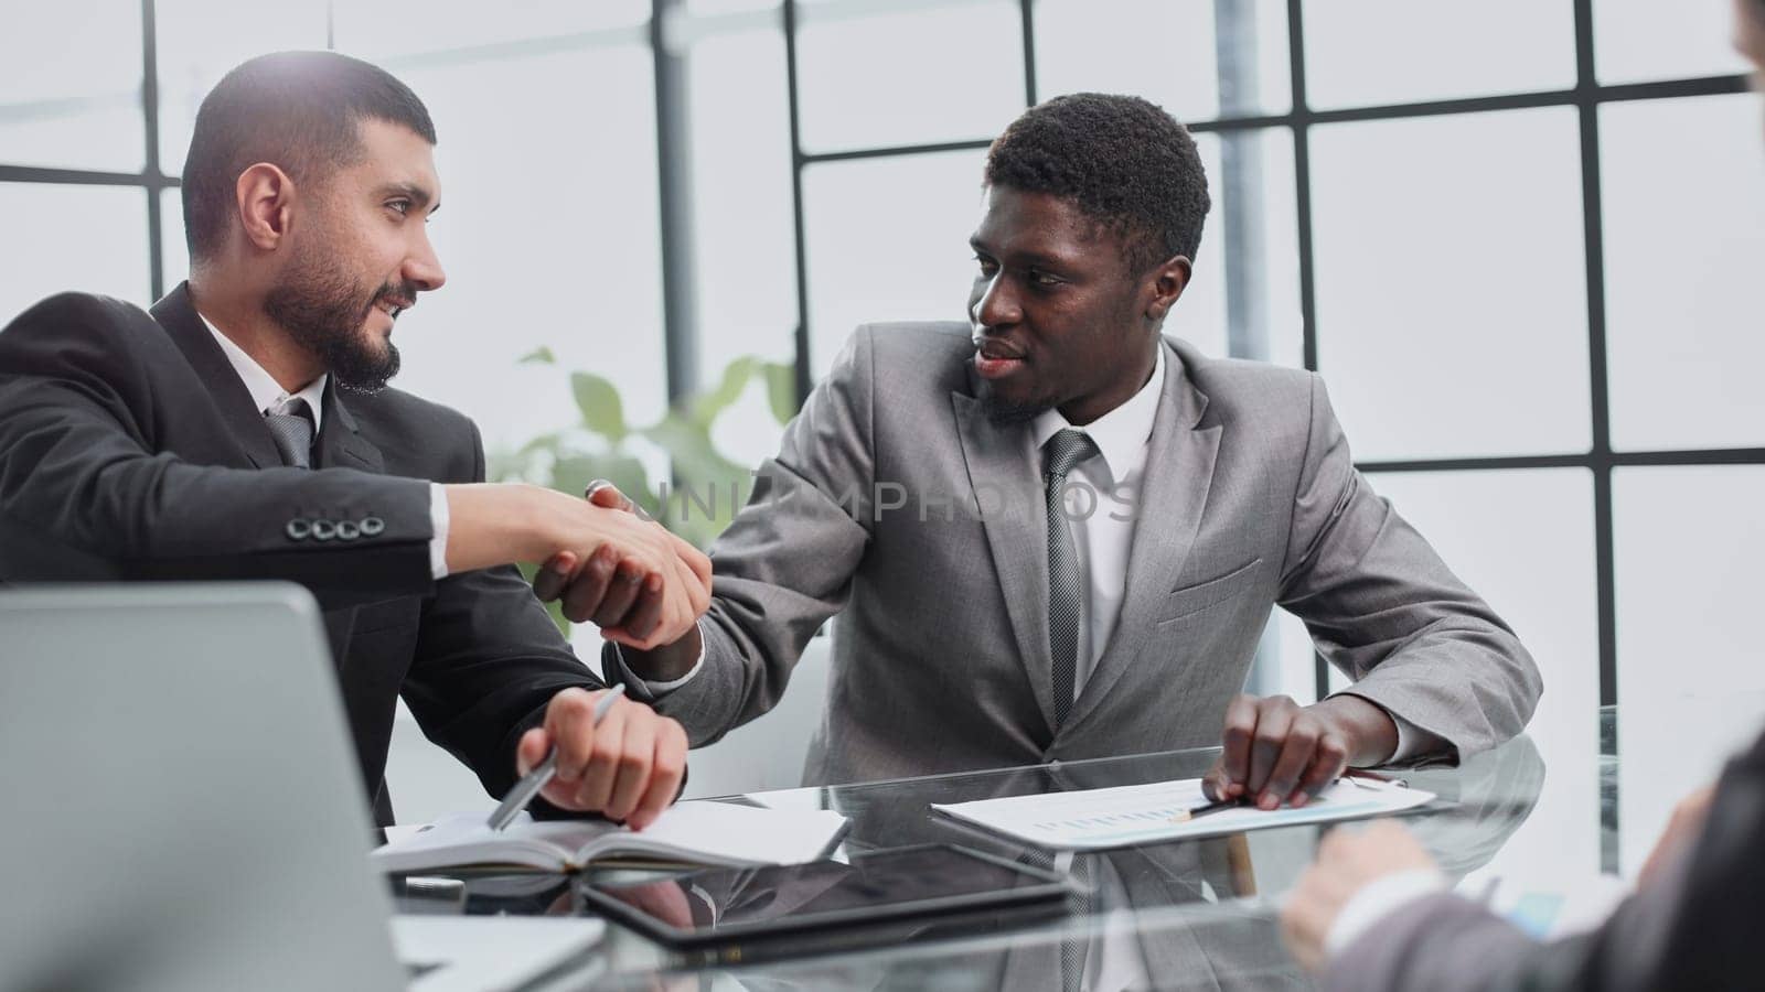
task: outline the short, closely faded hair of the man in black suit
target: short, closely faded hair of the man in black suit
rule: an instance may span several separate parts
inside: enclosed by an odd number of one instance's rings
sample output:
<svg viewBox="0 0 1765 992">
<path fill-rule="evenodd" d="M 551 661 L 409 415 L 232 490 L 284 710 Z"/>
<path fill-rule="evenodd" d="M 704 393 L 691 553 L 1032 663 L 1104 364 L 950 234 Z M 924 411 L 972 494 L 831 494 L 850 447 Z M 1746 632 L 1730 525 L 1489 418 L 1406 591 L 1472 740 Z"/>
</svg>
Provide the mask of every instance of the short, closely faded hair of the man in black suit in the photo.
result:
<svg viewBox="0 0 1765 992">
<path fill-rule="evenodd" d="M 272 162 L 323 184 L 362 155 L 364 118 L 401 124 L 436 143 L 429 108 L 392 72 L 335 51 L 277 51 L 244 62 L 196 111 L 184 157 L 184 238 L 191 259 L 226 240 L 238 173 Z"/>
</svg>

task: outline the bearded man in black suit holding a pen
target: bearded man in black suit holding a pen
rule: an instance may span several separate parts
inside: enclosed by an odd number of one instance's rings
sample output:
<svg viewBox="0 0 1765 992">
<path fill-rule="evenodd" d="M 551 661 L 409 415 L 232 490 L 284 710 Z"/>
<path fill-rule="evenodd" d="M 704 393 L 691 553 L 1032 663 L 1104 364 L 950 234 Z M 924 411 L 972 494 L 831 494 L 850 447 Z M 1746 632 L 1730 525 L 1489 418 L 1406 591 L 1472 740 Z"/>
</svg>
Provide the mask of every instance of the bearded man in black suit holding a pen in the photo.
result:
<svg viewBox="0 0 1765 992">
<path fill-rule="evenodd" d="M 0 332 L 0 582 L 302 582 L 379 823 L 402 695 L 491 794 L 556 747 L 549 803 L 641 828 L 687 736 L 627 701 L 597 727 L 602 681 L 514 563 L 575 579 L 609 639 L 651 646 L 706 609 L 710 561 L 630 514 L 485 485 L 471 420 L 385 388 L 394 321 L 443 282 L 434 141 L 409 88 L 334 53 L 254 58 L 208 94 L 189 282 L 152 316 L 64 293 Z"/>
</svg>

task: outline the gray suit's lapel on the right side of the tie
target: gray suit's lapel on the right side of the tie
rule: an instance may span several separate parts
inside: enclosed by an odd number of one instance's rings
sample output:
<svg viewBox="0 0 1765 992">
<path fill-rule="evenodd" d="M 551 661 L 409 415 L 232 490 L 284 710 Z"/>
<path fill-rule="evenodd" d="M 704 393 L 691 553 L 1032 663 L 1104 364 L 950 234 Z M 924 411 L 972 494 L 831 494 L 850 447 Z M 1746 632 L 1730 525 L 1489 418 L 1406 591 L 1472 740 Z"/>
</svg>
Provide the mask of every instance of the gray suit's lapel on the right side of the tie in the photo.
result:
<svg viewBox="0 0 1765 992">
<path fill-rule="evenodd" d="M 1103 657 L 1078 692 L 1066 725 L 1078 724 L 1096 710 L 1098 699 L 1108 695 L 1153 635 L 1158 607 L 1170 595 L 1190 549 L 1195 547 L 1207 489 L 1213 485 L 1221 427 L 1197 427 L 1207 410 L 1207 395 L 1190 381 L 1177 353 L 1168 344 L 1163 348 L 1165 387 L 1158 395 L 1153 443 L 1135 505 L 1121 618 Z"/>
</svg>

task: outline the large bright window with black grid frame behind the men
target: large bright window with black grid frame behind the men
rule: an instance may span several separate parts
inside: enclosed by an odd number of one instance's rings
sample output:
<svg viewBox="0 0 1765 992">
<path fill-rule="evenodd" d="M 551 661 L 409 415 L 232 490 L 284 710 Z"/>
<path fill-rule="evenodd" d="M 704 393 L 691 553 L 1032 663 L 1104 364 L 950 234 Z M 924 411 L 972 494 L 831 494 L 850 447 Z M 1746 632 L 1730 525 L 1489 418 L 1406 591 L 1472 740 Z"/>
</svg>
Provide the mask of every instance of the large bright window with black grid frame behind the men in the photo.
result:
<svg viewBox="0 0 1765 992">
<path fill-rule="evenodd" d="M 182 277 L 196 104 L 265 46 L 235 7 L 69 0 L 9 23 L 0 311 L 62 288 L 148 302 Z M 1661 808 L 1650 754 L 1703 734 L 1686 747 L 1714 755 L 1740 718 L 1668 722 L 1663 694 L 1765 687 L 1735 591 L 1760 551 L 1735 535 L 1756 531 L 1765 464 L 1747 298 L 1765 152 L 1724 16 L 302 0 L 274 48 L 371 58 L 429 102 L 450 282 L 401 321 L 401 385 L 478 418 L 492 448 L 575 417 L 554 367 L 517 364 L 542 346 L 618 381 L 642 422 L 741 355 L 794 362 L 801 395 L 860 321 L 962 319 L 988 139 L 1063 92 L 1167 106 L 1216 203 L 1170 330 L 1327 376 L 1373 485 L 1537 653 L 1532 734 L 1576 830 L 1596 708 L 1619 708 L 1626 833 L 1601 863 L 1633 868 Z M 738 462 L 775 440 L 757 387 L 717 434 Z M 1331 685 L 1297 623 L 1274 623 L 1255 687 Z"/>
</svg>

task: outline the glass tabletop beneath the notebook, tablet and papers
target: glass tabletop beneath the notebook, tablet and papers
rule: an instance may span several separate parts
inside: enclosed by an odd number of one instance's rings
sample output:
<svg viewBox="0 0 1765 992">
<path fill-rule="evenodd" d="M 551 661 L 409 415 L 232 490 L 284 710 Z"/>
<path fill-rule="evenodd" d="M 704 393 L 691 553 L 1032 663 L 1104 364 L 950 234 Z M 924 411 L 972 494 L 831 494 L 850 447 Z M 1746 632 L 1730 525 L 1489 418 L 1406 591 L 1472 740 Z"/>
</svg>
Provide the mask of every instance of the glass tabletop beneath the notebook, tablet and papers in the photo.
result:
<svg viewBox="0 0 1765 992">
<path fill-rule="evenodd" d="M 1610 717 L 1603 720 L 1610 722 Z M 1606 847 L 1617 759 L 1601 748 L 1601 817 L 1587 844 Z M 1202 775 L 1218 748 L 971 771 L 817 789 L 782 789 L 702 801 L 831 808 L 851 817 L 842 853 L 953 842 L 1073 876 L 1087 895 L 1043 911 L 918 920 L 875 932 L 835 934 L 828 946 L 798 937 L 713 960 L 674 951 L 609 921 L 605 939 L 537 988 L 1306 988 L 1280 941 L 1274 906 L 1317 849 L 1318 826 L 1061 854 L 965 828 L 928 803 L 1096 789 Z M 1458 768 L 1393 770 L 1440 798 L 1407 815 L 1442 868 L 1483 868 L 1521 831 L 1544 787 L 1544 763 L 1521 736 Z M 1536 830 L 1560 830 L 1539 824 Z M 835 854 L 840 856 L 840 854 Z M 625 872 L 630 876 L 630 872 Z M 477 876 L 462 884 L 413 881 L 404 913 L 588 913 L 560 876 Z M 807 948 L 815 948 L 805 955 Z M 1066 971 L 1063 973 L 1063 955 Z M 1082 962 L 1082 964 L 1080 964 Z"/>
</svg>

